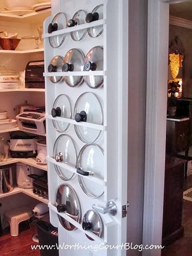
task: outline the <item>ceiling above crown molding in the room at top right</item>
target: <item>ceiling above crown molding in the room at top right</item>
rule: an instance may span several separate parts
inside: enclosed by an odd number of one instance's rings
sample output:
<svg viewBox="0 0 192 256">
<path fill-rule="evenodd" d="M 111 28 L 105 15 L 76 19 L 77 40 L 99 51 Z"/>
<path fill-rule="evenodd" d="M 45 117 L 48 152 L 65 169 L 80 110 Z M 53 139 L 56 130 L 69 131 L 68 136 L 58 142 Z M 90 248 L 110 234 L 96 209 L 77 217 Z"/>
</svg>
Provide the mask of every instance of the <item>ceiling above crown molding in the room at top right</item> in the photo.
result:
<svg viewBox="0 0 192 256">
<path fill-rule="evenodd" d="M 186 2 L 178 4 L 170 4 L 169 14 L 186 20 L 192 20 L 192 0 L 186 0 Z"/>
</svg>

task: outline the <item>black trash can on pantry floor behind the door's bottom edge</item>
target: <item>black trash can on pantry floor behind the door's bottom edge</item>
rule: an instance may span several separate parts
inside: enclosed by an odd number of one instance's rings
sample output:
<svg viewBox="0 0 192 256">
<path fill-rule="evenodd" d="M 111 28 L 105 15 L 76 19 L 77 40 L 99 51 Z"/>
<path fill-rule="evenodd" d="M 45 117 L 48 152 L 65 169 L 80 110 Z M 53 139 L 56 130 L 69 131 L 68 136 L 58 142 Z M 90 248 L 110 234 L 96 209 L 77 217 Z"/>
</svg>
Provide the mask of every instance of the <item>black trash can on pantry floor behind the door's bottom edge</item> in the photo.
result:
<svg viewBox="0 0 192 256">
<path fill-rule="evenodd" d="M 33 224 L 38 230 L 39 245 L 44 246 L 44 248 L 40 249 L 40 255 L 59 256 L 56 246 L 56 244 L 58 244 L 58 236 L 54 234 L 57 233 L 58 229 L 52 226 L 52 224 L 43 220 L 37 220 Z"/>
</svg>

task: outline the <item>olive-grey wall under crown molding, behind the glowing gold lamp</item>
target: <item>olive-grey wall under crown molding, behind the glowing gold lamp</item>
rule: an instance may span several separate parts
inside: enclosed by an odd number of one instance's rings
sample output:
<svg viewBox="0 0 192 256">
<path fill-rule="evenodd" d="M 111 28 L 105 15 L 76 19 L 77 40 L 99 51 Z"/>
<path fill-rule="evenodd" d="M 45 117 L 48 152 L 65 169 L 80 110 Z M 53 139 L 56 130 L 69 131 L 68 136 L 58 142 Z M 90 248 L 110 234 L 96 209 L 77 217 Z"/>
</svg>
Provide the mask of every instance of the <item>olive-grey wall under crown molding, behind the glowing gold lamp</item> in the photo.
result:
<svg viewBox="0 0 192 256">
<path fill-rule="evenodd" d="M 169 26 L 169 42 L 172 41 L 175 36 L 179 36 L 183 42 L 183 46 L 186 49 L 186 68 L 185 68 L 185 90 L 184 96 L 192 98 L 192 29 L 183 28 L 180 26 Z"/>
</svg>

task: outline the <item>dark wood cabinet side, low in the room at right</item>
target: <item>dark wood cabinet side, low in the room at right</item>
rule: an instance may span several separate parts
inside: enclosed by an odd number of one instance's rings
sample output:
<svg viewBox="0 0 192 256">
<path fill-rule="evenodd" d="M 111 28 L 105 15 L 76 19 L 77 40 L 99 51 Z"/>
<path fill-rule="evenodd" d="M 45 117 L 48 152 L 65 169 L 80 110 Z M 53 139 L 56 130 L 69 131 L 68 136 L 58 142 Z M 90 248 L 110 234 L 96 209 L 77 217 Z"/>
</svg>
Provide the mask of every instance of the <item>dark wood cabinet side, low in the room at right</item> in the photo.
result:
<svg viewBox="0 0 192 256">
<path fill-rule="evenodd" d="M 182 199 L 185 160 L 166 156 L 162 244 L 168 245 L 183 236 Z"/>
</svg>

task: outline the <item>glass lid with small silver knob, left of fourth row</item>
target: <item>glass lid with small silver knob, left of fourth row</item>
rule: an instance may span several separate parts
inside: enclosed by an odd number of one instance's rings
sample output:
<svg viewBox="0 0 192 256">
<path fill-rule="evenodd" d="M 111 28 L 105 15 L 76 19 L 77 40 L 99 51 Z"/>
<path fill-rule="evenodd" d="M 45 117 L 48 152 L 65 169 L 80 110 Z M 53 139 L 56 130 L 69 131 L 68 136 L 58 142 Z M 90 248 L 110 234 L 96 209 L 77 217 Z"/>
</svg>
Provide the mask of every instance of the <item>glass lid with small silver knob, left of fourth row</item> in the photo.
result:
<svg viewBox="0 0 192 256">
<path fill-rule="evenodd" d="M 76 168 L 77 149 L 74 140 L 69 135 L 60 135 L 55 141 L 53 156 L 56 162 L 65 163 Z M 54 166 L 58 176 L 62 180 L 70 180 L 73 177 L 74 173 L 58 166 L 57 164 Z"/>
</svg>

